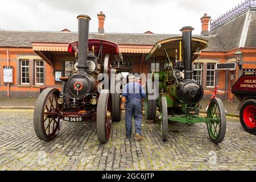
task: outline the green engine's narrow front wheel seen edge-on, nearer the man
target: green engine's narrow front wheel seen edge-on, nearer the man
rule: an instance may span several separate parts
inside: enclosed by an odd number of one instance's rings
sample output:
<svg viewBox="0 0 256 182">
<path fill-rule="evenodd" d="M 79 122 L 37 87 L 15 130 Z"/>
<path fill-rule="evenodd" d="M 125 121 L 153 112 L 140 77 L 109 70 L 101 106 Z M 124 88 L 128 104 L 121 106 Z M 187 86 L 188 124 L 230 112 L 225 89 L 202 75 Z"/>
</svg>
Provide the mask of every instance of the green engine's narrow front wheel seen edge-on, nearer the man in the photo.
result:
<svg viewBox="0 0 256 182">
<path fill-rule="evenodd" d="M 168 110 L 166 97 L 161 98 L 161 134 L 162 139 L 165 142 L 167 140 L 168 133 Z"/>
</svg>

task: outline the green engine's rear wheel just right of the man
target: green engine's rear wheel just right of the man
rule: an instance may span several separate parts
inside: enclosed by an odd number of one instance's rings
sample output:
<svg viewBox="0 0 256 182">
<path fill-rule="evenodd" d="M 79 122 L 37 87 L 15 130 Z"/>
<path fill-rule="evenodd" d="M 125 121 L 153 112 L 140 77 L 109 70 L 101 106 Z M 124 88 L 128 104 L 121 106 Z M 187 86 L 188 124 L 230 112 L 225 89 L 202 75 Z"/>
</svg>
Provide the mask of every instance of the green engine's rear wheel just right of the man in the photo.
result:
<svg viewBox="0 0 256 182">
<path fill-rule="evenodd" d="M 154 84 L 152 84 L 154 85 Z M 147 120 L 156 119 L 156 99 L 154 98 L 154 89 L 147 84 L 147 93 L 144 101 L 145 117 Z"/>
</svg>

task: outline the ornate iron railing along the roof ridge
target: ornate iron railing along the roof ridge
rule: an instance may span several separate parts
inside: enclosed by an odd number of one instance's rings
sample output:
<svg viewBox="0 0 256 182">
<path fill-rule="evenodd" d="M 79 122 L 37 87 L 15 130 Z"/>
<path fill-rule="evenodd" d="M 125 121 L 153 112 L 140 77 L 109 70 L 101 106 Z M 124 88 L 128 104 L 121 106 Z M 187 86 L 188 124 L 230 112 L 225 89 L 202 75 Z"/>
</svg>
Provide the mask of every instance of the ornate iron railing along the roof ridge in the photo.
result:
<svg viewBox="0 0 256 182">
<path fill-rule="evenodd" d="M 245 2 L 242 2 L 241 5 L 238 4 L 238 6 L 235 6 L 232 10 L 227 11 L 217 19 L 210 20 L 210 30 L 214 30 L 215 28 L 221 26 L 221 24 L 227 22 L 234 16 L 242 13 L 250 7 L 256 7 L 256 0 L 246 0 Z"/>
</svg>

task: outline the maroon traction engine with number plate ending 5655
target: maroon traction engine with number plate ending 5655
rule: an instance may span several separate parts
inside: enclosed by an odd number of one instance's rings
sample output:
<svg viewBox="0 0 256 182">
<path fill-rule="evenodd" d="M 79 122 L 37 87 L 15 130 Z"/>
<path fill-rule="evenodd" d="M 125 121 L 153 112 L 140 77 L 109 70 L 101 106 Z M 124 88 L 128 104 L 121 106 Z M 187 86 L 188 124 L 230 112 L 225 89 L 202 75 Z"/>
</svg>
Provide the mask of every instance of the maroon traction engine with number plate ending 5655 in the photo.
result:
<svg viewBox="0 0 256 182">
<path fill-rule="evenodd" d="M 49 141 L 57 136 L 63 121 L 96 118 L 98 140 L 106 143 L 112 121 L 121 119 L 121 92 L 113 89 L 110 93 L 109 87 L 121 85 L 121 75 L 112 74 L 115 71 L 111 68 L 111 61 L 122 61 L 122 55 L 113 42 L 89 39 L 89 16 L 79 15 L 77 19 L 79 40 L 68 46 L 68 51 L 75 55 L 76 71 L 71 77 L 60 78 L 63 81 L 61 92 L 48 88 L 39 95 L 34 111 L 34 129 L 39 139 Z"/>
</svg>

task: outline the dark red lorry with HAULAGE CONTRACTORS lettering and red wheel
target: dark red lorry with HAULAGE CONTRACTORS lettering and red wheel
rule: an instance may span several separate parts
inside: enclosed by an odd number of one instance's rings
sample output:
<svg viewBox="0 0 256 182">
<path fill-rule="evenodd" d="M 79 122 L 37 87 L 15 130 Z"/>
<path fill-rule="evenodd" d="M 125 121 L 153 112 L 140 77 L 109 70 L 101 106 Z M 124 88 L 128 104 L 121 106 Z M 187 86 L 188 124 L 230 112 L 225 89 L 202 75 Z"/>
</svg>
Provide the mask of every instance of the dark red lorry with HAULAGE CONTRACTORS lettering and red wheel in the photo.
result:
<svg viewBox="0 0 256 182">
<path fill-rule="evenodd" d="M 240 122 L 248 133 L 256 135 L 256 75 L 243 75 L 232 87 L 240 101 Z"/>
</svg>

